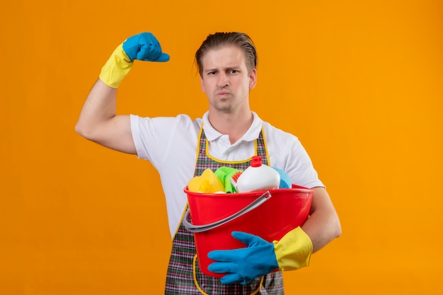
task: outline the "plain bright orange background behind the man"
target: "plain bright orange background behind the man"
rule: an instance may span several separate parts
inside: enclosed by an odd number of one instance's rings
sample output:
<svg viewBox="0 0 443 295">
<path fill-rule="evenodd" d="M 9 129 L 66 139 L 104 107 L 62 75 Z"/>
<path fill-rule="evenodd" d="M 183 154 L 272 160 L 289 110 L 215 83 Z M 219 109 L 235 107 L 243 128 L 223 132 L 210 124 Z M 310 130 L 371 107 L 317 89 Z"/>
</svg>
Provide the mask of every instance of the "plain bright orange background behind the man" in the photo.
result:
<svg viewBox="0 0 443 295">
<path fill-rule="evenodd" d="M 443 3 L 7 1 L 0 11 L 0 294 L 162 294 L 171 239 L 152 166 L 74 132 L 101 66 L 153 32 L 120 113 L 200 117 L 193 54 L 215 31 L 258 47 L 251 105 L 296 134 L 343 236 L 287 294 L 439 294 Z"/>
</svg>

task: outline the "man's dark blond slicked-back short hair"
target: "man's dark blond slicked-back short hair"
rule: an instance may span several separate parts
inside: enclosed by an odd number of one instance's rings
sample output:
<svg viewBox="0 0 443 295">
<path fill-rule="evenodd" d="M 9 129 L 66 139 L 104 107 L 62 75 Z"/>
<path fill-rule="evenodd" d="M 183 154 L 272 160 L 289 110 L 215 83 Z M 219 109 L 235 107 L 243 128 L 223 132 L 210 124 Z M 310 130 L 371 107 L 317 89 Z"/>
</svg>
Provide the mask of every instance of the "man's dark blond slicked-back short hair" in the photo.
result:
<svg viewBox="0 0 443 295">
<path fill-rule="evenodd" d="M 257 67 L 258 57 L 255 45 L 251 37 L 245 33 L 229 32 L 229 33 L 214 33 L 207 36 L 206 40 L 202 42 L 200 48 L 195 52 L 195 63 L 197 70 L 202 76 L 203 64 L 202 59 L 205 53 L 209 50 L 216 49 L 225 45 L 234 45 L 243 50 L 246 58 L 246 67 L 252 71 Z"/>
</svg>

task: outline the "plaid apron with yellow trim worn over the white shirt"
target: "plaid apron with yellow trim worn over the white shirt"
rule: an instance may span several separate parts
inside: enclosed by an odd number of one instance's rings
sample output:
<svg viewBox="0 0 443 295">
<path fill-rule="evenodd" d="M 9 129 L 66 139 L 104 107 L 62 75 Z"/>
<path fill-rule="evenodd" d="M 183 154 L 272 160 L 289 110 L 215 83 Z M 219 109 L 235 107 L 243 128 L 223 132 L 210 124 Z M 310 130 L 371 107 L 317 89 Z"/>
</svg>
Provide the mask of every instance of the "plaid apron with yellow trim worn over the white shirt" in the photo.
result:
<svg viewBox="0 0 443 295">
<path fill-rule="evenodd" d="M 195 166 L 195 176 L 199 176 L 207 168 L 213 171 L 226 166 L 245 170 L 249 167 L 251 159 L 236 162 L 216 161 L 207 154 L 208 142 L 203 132 L 197 142 L 197 163 Z M 260 136 L 255 140 L 255 154 L 262 157 L 263 164 L 267 165 L 267 151 L 263 129 Z M 188 207 L 188 205 L 187 205 Z M 186 208 L 185 208 L 186 209 Z M 250 284 L 222 284 L 219 278 L 209 277 L 200 272 L 198 266 L 197 252 L 195 250 L 193 233 L 187 231 L 180 223 L 178 231 L 173 238 L 171 258 L 166 274 L 165 294 L 168 295 L 231 295 L 231 294 L 284 294 L 282 272 L 272 272 L 256 279 Z"/>
</svg>

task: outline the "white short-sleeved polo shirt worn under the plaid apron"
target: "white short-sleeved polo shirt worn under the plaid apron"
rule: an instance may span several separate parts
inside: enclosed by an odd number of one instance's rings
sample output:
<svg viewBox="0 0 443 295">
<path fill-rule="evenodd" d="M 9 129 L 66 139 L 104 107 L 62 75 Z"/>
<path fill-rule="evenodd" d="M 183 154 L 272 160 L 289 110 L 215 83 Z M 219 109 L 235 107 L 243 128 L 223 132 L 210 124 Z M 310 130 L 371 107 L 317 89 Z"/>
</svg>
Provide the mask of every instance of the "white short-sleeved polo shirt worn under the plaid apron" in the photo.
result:
<svg viewBox="0 0 443 295">
<path fill-rule="evenodd" d="M 194 177 L 197 139 L 203 124 L 209 141 L 209 156 L 220 162 L 245 161 L 255 155 L 255 139 L 263 128 L 270 166 L 288 173 L 292 183 L 304 187 L 323 187 L 311 159 L 297 137 L 263 122 L 253 112 L 248 131 L 231 144 L 226 134 L 212 127 L 208 112 L 200 119 L 177 117 L 139 117 L 131 115 L 131 129 L 137 156 L 159 171 L 166 197 L 171 237 L 174 236 L 188 201 L 183 189 Z"/>
</svg>

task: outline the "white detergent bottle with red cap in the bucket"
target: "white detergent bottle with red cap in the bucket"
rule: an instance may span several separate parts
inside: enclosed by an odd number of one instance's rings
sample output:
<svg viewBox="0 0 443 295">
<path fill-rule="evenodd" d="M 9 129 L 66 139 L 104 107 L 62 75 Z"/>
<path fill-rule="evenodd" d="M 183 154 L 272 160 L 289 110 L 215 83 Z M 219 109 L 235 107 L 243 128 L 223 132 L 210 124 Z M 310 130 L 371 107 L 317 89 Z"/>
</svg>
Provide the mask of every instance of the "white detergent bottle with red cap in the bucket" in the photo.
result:
<svg viewBox="0 0 443 295">
<path fill-rule="evenodd" d="M 238 176 L 237 192 L 255 192 L 257 190 L 275 190 L 280 185 L 280 173 L 262 163 L 260 156 L 253 156 L 251 166 Z"/>
</svg>

